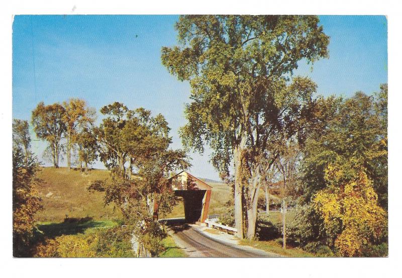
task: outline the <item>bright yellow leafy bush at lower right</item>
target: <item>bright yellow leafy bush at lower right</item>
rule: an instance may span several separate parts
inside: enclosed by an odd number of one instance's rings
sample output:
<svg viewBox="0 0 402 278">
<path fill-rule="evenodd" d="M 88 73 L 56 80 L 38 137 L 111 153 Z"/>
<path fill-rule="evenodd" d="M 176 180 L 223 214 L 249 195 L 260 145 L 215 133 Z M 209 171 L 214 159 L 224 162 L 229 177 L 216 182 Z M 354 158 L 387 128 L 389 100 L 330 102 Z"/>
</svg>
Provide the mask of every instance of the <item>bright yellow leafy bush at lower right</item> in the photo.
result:
<svg viewBox="0 0 402 278">
<path fill-rule="evenodd" d="M 372 181 L 362 169 L 345 178 L 347 169 L 329 165 L 325 178 L 327 188 L 318 192 L 313 203 L 331 230 L 341 223 L 335 247 L 341 255 L 359 256 L 362 247 L 383 236 L 387 229 L 386 212 L 377 204 Z"/>
</svg>

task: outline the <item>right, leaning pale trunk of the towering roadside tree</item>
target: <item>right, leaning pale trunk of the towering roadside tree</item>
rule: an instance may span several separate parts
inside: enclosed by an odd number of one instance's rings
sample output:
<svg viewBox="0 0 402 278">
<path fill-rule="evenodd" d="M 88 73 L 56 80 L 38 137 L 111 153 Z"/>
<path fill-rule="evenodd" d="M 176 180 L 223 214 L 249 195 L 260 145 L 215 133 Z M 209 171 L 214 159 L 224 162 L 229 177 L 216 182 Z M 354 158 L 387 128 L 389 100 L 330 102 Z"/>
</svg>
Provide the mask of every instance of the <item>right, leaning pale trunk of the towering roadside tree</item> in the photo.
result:
<svg viewBox="0 0 402 278">
<path fill-rule="evenodd" d="M 257 175 L 257 171 L 255 171 L 251 179 L 251 184 L 249 185 L 249 208 L 247 209 L 247 238 L 249 240 L 254 239 L 257 224 L 258 193 L 260 191 Z"/>
</svg>

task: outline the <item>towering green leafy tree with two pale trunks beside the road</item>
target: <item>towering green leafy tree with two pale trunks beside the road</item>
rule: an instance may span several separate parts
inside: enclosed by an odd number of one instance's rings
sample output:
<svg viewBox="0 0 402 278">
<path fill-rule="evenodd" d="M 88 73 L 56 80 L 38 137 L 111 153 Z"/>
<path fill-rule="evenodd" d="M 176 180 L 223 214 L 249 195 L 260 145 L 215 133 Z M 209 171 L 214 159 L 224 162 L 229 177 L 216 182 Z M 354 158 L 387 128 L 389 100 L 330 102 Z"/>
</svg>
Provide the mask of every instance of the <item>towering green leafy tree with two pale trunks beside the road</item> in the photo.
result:
<svg viewBox="0 0 402 278">
<path fill-rule="evenodd" d="M 278 131 L 295 133 L 300 115 L 309 116 L 301 111 L 315 85 L 301 77 L 289 82 L 298 61 L 328 56 L 329 37 L 318 23 L 315 16 L 181 16 L 175 26 L 180 45 L 162 48 L 163 65 L 191 85 L 183 143 L 201 152 L 208 143 L 223 176 L 233 162 L 241 238 L 244 206 L 248 237 L 255 234 L 256 157 Z"/>
</svg>

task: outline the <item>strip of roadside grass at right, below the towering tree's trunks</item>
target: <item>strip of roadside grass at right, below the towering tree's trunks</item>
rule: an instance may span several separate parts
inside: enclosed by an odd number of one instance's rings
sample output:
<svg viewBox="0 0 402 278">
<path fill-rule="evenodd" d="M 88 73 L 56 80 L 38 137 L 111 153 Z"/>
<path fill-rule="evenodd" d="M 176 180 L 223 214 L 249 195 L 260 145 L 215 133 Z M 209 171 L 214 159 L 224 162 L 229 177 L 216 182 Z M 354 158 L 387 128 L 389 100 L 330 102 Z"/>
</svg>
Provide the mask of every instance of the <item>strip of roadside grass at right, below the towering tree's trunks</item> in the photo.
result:
<svg viewBox="0 0 402 278">
<path fill-rule="evenodd" d="M 269 240 L 269 241 L 256 241 L 256 240 L 248 240 L 243 239 L 240 240 L 241 245 L 248 245 L 257 249 L 261 249 L 267 252 L 275 253 L 278 255 L 286 256 L 286 257 L 315 257 L 316 255 L 313 253 L 306 252 L 300 248 L 282 248 L 282 244 L 278 242 L 278 240 Z"/>
</svg>

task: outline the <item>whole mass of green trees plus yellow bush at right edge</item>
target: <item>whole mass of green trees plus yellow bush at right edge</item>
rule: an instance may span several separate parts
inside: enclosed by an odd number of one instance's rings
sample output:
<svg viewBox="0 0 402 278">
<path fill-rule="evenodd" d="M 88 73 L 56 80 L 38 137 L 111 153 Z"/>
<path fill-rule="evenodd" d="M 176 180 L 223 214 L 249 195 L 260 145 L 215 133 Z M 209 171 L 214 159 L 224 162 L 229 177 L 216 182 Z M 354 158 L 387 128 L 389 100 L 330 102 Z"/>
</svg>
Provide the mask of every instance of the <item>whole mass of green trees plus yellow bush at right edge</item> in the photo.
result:
<svg viewBox="0 0 402 278">
<path fill-rule="evenodd" d="M 357 92 L 350 99 L 328 98 L 321 103 L 321 128 L 309 136 L 303 149 L 303 196 L 290 229 L 302 246 L 320 241 L 331 248 L 337 245 L 342 255 L 361 256 L 364 246 L 387 240 L 383 233 L 387 226 L 386 100 L 387 86 L 382 84 L 375 98 Z M 314 208 L 313 199 L 321 205 Z M 323 210 L 339 214 L 329 217 Z M 356 224 L 359 219 L 364 224 Z M 352 229 L 354 225 L 358 228 Z"/>
</svg>

